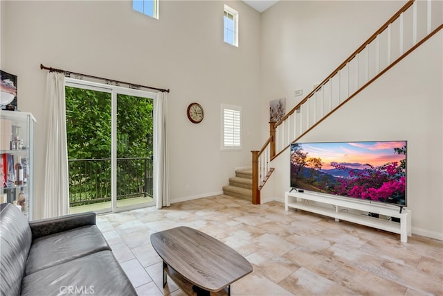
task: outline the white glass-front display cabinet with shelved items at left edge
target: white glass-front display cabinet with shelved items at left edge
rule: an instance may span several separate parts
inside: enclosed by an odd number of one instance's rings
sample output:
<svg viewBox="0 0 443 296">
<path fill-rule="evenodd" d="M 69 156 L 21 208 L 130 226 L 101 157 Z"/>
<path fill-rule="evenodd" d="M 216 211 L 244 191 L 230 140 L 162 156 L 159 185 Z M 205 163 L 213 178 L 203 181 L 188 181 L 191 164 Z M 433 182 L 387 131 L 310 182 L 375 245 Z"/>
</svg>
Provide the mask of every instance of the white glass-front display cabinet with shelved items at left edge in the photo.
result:
<svg viewBox="0 0 443 296">
<path fill-rule="evenodd" d="M 15 204 L 33 220 L 33 114 L 0 111 L 0 203 Z"/>
</svg>

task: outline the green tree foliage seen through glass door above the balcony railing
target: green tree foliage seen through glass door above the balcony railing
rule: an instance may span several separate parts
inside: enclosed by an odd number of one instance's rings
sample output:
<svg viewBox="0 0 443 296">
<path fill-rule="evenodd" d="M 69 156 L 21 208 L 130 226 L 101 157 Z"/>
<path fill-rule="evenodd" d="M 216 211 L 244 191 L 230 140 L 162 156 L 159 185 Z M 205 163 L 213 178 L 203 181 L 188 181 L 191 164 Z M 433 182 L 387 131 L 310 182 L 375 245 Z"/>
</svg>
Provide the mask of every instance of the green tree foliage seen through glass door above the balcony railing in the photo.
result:
<svg viewBox="0 0 443 296">
<path fill-rule="evenodd" d="M 118 94 L 117 157 L 152 157 L 153 100 Z M 111 157 L 111 94 L 66 87 L 69 159 Z"/>
</svg>

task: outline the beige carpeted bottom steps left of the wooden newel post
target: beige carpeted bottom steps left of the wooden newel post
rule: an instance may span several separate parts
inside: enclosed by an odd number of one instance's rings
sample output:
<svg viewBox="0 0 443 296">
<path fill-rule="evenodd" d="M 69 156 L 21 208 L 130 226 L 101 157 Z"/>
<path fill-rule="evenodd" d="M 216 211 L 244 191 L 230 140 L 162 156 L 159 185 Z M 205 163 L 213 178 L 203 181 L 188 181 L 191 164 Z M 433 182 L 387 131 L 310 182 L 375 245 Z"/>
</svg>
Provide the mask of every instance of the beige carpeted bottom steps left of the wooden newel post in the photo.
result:
<svg viewBox="0 0 443 296">
<path fill-rule="evenodd" d="M 252 168 L 235 170 L 235 177 L 229 178 L 229 185 L 223 186 L 223 194 L 252 201 Z"/>
</svg>

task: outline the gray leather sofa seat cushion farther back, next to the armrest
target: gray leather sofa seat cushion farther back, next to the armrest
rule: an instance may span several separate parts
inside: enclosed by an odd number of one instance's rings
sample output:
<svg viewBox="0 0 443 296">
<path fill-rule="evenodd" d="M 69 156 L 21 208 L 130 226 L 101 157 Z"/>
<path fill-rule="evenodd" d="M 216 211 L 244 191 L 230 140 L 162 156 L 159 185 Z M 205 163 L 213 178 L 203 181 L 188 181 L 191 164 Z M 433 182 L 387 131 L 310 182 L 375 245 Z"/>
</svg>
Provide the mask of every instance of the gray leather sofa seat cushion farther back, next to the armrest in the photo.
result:
<svg viewBox="0 0 443 296">
<path fill-rule="evenodd" d="M 42 236 L 30 247 L 25 275 L 103 250 L 111 250 L 96 225 Z"/>
</svg>

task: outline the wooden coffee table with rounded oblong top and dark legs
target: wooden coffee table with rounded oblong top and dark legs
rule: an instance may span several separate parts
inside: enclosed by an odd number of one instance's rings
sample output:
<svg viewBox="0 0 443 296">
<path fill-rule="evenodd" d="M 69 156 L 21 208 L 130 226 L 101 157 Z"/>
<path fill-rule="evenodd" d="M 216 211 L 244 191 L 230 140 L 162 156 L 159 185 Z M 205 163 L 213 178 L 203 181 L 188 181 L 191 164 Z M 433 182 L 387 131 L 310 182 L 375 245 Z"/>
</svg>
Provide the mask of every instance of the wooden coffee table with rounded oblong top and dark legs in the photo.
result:
<svg viewBox="0 0 443 296">
<path fill-rule="evenodd" d="M 163 259 L 163 288 L 167 274 L 177 273 L 194 285 L 192 290 L 199 296 L 226 287 L 230 295 L 230 284 L 252 272 L 244 256 L 197 229 L 181 226 L 157 232 L 151 235 L 151 243 Z"/>
</svg>

